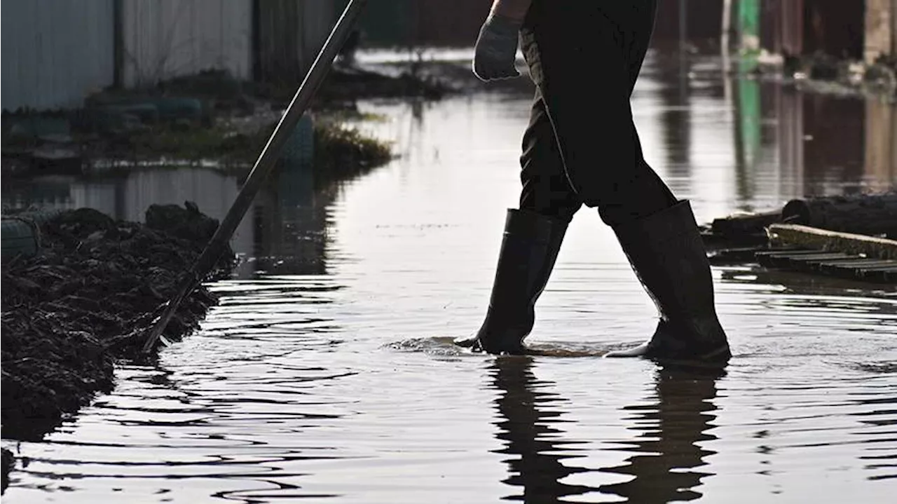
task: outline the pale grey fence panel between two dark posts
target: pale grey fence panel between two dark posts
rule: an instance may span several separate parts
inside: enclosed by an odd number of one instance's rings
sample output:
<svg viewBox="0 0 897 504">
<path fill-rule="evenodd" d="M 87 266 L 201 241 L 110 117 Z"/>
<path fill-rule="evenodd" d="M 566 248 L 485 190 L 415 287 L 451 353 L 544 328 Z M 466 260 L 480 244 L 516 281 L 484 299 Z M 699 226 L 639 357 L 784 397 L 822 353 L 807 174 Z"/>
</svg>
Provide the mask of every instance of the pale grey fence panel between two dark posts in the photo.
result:
<svg viewBox="0 0 897 504">
<path fill-rule="evenodd" d="M 251 0 L 123 0 L 124 84 L 210 68 L 249 78 L 251 37 Z"/>
</svg>

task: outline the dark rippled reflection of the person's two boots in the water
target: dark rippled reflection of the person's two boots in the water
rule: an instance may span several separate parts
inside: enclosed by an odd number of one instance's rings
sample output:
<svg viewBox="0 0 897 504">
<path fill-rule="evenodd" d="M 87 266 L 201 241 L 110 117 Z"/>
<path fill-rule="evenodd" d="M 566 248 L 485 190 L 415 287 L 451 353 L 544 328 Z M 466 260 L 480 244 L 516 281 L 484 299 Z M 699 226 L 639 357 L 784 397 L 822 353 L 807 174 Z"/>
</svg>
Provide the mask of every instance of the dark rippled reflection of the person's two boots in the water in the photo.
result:
<svg viewBox="0 0 897 504">
<path fill-rule="evenodd" d="M 701 479 L 710 476 L 704 461 L 713 451 L 701 448 L 717 439 L 708 430 L 716 418 L 715 380 L 694 370 L 658 370 L 649 397 L 639 405 L 622 408 L 633 424 L 633 439 L 618 441 L 614 449 L 631 453 L 620 465 L 597 469 L 622 474 L 627 481 L 589 486 L 567 482 L 571 475 L 588 473 L 577 462 L 584 456 L 582 441 L 565 439 L 564 406 L 569 404 L 550 391 L 554 384 L 536 378 L 531 358 L 496 359 L 491 368 L 498 438 L 505 446 L 497 453 L 509 456 L 505 483 L 520 487 L 506 500 L 525 502 L 579 501 L 572 496 L 613 495 L 628 502 L 656 503 L 701 497 Z M 704 472 L 699 468 L 704 467 Z"/>
</svg>

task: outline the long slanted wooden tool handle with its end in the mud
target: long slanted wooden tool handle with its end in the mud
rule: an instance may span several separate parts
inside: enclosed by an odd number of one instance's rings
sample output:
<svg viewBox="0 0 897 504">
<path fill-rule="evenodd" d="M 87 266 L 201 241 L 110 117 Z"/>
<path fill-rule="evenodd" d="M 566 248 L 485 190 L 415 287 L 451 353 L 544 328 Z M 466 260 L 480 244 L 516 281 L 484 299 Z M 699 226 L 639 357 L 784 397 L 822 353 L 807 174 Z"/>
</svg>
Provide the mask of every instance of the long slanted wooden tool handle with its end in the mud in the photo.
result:
<svg viewBox="0 0 897 504">
<path fill-rule="evenodd" d="M 178 293 L 168 301 L 168 305 L 162 314 L 153 320 L 152 329 L 150 329 L 149 334 L 146 336 L 146 343 L 144 343 L 144 353 L 152 351 L 155 344 L 159 341 L 166 345 L 170 344 L 162 336 L 162 331 L 165 330 L 165 326 L 168 326 L 180 303 L 187 298 L 190 292 L 196 289 L 199 282 L 202 282 L 205 275 L 218 262 L 224 245 L 230 241 L 233 231 L 237 229 L 239 222 L 243 220 L 243 215 L 246 214 L 249 205 L 252 204 L 252 200 L 256 197 L 262 182 L 265 181 L 268 173 L 274 168 L 274 163 L 283 151 L 283 144 L 286 143 L 292 134 L 302 114 L 309 108 L 309 103 L 314 98 L 324 78 L 327 77 L 335 57 L 339 53 L 340 48 L 343 47 L 345 39 L 352 31 L 365 4 L 367 4 L 367 0 L 349 0 L 343 15 L 336 22 L 334 29 L 330 32 L 330 36 L 324 42 L 324 47 L 321 48 L 314 64 L 311 65 L 309 74 L 305 76 L 299 91 L 296 91 L 296 95 L 293 96 L 290 105 L 283 113 L 283 117 L 277 123 L 277 127 L 274 128 L 274 133 L 268 139 L 265 149 L 258 156 L 255 166 L 252 167 L 246 182 L 240 188 L 237 199 L 234 200 L 231 209 L 224 216 L 224 220 L 218 226 L 218 229 L 215 230 L 215 234 L 209 240 L 208 245 L 205 246 L 203 254 L 196 259 L 196 263 L 181 280 Z"/>
</svg>

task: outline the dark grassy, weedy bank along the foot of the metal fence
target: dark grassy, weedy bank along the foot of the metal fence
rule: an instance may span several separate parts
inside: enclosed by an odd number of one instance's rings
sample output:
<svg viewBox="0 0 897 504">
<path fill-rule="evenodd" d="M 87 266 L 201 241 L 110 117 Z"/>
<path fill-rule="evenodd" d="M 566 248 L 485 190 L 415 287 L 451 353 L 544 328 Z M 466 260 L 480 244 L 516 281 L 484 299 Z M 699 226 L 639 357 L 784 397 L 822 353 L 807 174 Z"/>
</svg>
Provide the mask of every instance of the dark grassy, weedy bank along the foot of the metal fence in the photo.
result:
<svg viewBox="0 0 897 504">
<path fill-rule="evenodd" d="M 372 72 L 335 72 L 332 78 L 332 86 L 359 88 L 346 95 L 357 91 L 356 99 L 374 83 L 383 92 L 404 89 L 397 86 L 402 79 Z M 264 85 L 205 72 L 143 89 L 102 91 L 88 97 L 83 109 L 0 112 L 0 178 L 103 176 L 149 164 L 213 166 L 244 175 L 285 106 L 259 97 L 257 88 Z M 353 177 L 392 159 L 391 145 L 346 124 L 385 117 L 359 111 L 353 100 L 325 97 L 312 110 L 316 180 Z"/>
</svg>

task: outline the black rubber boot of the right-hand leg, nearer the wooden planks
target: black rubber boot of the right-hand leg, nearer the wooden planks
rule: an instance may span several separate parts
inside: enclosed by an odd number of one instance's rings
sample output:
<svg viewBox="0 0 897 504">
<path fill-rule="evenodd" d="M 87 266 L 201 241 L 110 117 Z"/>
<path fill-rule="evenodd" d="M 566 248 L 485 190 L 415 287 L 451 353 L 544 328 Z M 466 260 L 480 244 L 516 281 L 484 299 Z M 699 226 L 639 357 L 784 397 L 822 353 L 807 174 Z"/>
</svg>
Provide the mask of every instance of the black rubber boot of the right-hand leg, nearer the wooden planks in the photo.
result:
<svg viewBox="0 0 897 504">
<path fill-rule="evenodd" d="M 688 201 L 614 226 L 632 269 L 660 312 L 647 343 L 606 357 L 647 357 L 660 363 L 725 365 L 731 358 L 713 300 L 710 262 Z"/>
</svg>

